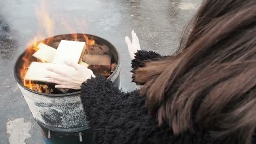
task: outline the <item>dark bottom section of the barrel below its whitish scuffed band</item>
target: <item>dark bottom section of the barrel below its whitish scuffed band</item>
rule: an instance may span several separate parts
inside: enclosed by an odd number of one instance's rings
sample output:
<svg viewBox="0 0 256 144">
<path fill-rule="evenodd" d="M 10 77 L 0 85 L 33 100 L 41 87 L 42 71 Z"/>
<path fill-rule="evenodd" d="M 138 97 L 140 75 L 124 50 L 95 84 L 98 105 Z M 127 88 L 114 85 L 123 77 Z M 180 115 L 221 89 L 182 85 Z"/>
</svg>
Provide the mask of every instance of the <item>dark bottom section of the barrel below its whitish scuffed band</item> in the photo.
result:
<svg viewBox="0 0 256 144">
<path fill-rule="evenodd" d="M 38 124 L 39 125 L 39 124 Z M 90 129 L 79 132 L 51 131 L 40 126 L 45 144 L 94 144 Z"/>
</svg>

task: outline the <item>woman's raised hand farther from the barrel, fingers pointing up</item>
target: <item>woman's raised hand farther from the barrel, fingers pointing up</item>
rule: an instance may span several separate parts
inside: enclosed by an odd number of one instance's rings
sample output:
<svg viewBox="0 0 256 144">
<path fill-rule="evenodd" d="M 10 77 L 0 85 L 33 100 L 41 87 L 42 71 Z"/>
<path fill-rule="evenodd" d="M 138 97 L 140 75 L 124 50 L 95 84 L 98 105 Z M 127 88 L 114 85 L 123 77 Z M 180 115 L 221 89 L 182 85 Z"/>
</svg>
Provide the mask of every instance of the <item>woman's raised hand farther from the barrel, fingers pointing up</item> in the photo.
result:
<svg viewBox="0 0 256 144">
<path fill-rule="evenodd" d="M 134 53 L 141 50 L 140 44 L 139 44 L 139 38 L 137 37 L 136 33 L 134 31 L 131 31 L 132 41 L 129 39 L 129 37 L 125 37 L 125 42 L 128 46 L 128 51 L 131 56 L 131 59 L 134 59 Z"/>
</svg>

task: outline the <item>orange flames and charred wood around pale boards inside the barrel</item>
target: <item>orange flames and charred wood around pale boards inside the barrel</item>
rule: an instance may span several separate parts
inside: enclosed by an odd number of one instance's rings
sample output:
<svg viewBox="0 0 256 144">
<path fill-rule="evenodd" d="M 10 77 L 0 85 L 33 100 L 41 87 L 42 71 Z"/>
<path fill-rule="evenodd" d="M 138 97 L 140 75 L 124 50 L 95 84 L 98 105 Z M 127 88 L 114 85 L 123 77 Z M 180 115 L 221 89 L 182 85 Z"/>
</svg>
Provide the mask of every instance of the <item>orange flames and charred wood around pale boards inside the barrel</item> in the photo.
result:
<svg viewBox="0 0 256 144">
<path fill-rule="evenodd" d="M 67 35 L 60 35 L 56 37 L 50 37 L 40 42 L 45 44 L 48 43 L 50 47 L 53 45 L 52 47 L 56 48 L 56 44 L 59 44 L 61 40 L 79 40 L 86 42 L 87 48 L 83 56 L 83 61 L 89 65 L 88 68 L 91 69 L 95 75 L 99 74 L 104 75 L 105 77 L 109 77 L 112 72 L 114 72 L 117 64 L 112 58 L 109 47 L 107 45 L 101 44 L 99 40 L 99 44 L 96 43 L 93 37 L 88 37 L 85 34 L 72 34 L 68 35 L 68 37 Z M 38 83 L 32 80 L 24 80 L 24 77 L 32 61 L 45 62 L 41 61 L 40 59 L 35 59 L 35 57 L 33 57 L 33 54 L 39 50 L 37 48 L 37 45 L 40 42 L 35 42 L 31 47 L 27 48 L 22 58 L 23 61 L 21 62 L 23 63 L 23 65 L 20 69 L 20 78 L 23 81 L 23 85 L 33 91 L 37 91 L 40 93 L 58 94 L 74 92 L 72 90 L 57 89 L 54 87 L 55 85 L 51 83 Z"/>
</svg>

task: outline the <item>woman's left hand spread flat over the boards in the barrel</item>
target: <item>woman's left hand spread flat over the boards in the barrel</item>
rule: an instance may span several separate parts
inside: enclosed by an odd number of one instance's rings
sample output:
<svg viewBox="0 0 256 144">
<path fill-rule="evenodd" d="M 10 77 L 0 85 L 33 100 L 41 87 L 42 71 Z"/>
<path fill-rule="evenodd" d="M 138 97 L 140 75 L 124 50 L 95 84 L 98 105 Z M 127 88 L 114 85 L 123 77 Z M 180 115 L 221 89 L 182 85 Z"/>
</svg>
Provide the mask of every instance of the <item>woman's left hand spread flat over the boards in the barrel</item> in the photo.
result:
<svg viewBox="0 0 256 144">
<path fill-rule="evenodd" d="M 48 67 L 47 70 L 57 74 L 57 75 L 47 75 L 49 78 L 48 83 L 56 83 L 56 88 L 72 88 L 72 89 L 80 89 L 83 82 L 91 77 L 95 77 L 93 75 L 93 71 L 88 69 L 80 64 L 75 64 L 70 61 L 65 61 L 70 67 L 75 69 L 58 69 L 56 67 Z"/>
</svg>

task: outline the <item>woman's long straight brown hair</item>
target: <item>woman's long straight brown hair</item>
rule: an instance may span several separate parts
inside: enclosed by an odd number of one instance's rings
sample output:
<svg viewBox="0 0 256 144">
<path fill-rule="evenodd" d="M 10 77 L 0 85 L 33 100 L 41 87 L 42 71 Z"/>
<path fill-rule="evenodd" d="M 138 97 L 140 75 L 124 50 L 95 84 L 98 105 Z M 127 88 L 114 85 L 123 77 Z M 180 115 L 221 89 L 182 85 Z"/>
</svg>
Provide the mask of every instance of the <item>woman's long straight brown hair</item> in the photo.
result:
<svg viewBox="0 0 256 144">
<path fill-rule="evenodd" d="M 204 0 L 173 56 L 134 72 L 150 113 L 176 134 L 200 125 L 224 143 L 256 128 L 256 0 Z"/>
</svg>

